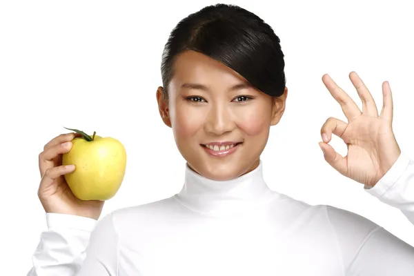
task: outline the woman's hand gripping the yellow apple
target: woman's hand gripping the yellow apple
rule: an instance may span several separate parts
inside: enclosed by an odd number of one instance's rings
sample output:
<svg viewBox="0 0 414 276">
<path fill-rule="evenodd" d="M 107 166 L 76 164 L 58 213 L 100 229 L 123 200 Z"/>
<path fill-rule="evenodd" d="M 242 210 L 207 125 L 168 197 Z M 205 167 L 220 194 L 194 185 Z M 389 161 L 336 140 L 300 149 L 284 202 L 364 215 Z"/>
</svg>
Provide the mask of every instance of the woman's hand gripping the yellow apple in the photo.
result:
<svg viewBox="0 0 414 276">
<path fill-rule="evenodd" d="M 62 166 L 62 155 L 70 151 L 72 139 L 80 136 L 75 132 L 62 134 L 44 146 L 39 155 L 41 181 L 37 195 L 46 213 L 99 219 L 105 201 L 77 199 L 63 177 L 75 168 Z"/>
</svg>

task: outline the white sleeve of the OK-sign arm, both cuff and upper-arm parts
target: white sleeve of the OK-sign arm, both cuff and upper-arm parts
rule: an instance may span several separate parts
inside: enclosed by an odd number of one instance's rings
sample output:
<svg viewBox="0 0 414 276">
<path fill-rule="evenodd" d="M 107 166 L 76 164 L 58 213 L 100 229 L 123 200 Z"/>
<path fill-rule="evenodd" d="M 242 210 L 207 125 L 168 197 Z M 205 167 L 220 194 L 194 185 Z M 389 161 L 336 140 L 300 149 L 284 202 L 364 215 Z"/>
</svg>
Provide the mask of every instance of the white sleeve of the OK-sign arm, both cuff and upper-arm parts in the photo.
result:
<svg viewBox="0 0 414 276">
<path fill-rule="evenodd" d="M 398 208 L 414 224 L 414 161 L 404 153 L 366 192 Z M 362 216 L 327 207 L 346 276 L 413 276 L 414 248 Z M 414 233 L 413 233 L 414 235 Z"/>
</svg>

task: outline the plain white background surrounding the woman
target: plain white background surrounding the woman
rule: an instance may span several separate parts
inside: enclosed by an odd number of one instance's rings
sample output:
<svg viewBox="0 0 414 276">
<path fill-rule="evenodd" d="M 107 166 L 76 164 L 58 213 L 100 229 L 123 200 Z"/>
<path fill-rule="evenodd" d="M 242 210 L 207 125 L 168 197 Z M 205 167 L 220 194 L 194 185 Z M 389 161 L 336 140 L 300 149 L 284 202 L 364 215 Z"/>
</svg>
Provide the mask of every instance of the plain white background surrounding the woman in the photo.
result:
<svg viewBox="0 0 414 276">
<path fill-rule="evenodd" d="M 177 193 L 185 161 L 159 117 L 161 52 L 179 20 L 213 1 L 2 1 L 0 3 L 1 236 L 3 275 L 26 275 L 46 230 L 37 161 L 63 126 L 119 139 L 124 182 L 103 215 Z M 324 161 L 319 130 L 346 120 L 322 83 L 328 73 L 353 97 L 355 70 L 382 105 L 390 81 L 394 131 L 414 157 L 411 1 L 233 1 L 282 40 L 286 112 L 262 155 L 273 190 L 309 204 L 351 210 L 414 246 L 414 226 Z M 331 142 L 342 154 L 346 146 Z M 8 272 L 8 273 L 6 273 Z"/>
</svg>

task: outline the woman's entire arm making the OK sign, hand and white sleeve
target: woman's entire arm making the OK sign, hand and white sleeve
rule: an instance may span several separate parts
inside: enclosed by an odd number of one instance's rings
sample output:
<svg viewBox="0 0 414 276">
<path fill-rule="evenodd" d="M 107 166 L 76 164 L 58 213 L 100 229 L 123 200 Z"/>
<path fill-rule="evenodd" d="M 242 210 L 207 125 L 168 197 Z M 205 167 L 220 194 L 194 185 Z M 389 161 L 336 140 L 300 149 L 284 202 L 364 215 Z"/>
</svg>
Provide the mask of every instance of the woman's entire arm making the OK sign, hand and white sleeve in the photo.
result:
<svg viewBox="0 0 414 276">
<path fill-rule="evenodd" d="M 398 208 L 414 224 L 414 161 L 401 152 L 393 133 L 393 97 L 388 81 L 382 83 L 382 110 L 355 72 L 349 75 L 362 110 L 327 74 L 322 81 L 337 100 L 348 123 L 333 117 L 321 129 L 319 146 L 324 158 L 342 175 L 364 184 L 368 193 Z M 332 135 L 348 148 L 342 157 L 329 145 Z M 371 188 L 369 188 L 371 187 Z M 368 219 L 338 215 L 327 208 L 344 260 L 345 275 L 414 275 L 414 248 Z"/>
</svg>

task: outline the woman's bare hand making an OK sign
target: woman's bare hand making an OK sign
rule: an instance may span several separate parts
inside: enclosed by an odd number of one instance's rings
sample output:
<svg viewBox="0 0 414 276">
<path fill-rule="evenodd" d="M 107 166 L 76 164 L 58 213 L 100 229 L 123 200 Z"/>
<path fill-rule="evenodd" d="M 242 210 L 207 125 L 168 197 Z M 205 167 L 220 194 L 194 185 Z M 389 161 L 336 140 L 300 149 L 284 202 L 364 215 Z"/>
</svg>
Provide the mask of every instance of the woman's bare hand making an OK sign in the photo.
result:
<svg viewBox="0 0 414 276">
<path fill-rule="evenodd" d="M 319 146 L 325 160 L 338 172 L 372 188 L 393 166 L 401 150 L 393 133 L 393 98 L 388 81 L 382 83 L 383 106 L 378 116 L 375 101 L 356 72 L 349 74 L 353 86 L 362 100 L 362 112 L 357 104 L 329 75 L 322 81 L 331 95 L 342 106 L 348 123 L 329 118 L 321 129 Z M 332 134 L 340 137 L 348 147 L 348 155 L 342 157 L 331 145 Z"/>
</svg>

